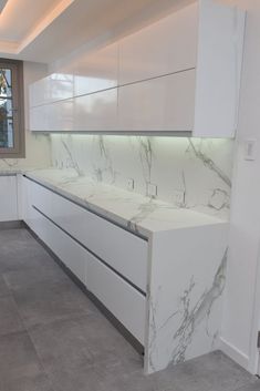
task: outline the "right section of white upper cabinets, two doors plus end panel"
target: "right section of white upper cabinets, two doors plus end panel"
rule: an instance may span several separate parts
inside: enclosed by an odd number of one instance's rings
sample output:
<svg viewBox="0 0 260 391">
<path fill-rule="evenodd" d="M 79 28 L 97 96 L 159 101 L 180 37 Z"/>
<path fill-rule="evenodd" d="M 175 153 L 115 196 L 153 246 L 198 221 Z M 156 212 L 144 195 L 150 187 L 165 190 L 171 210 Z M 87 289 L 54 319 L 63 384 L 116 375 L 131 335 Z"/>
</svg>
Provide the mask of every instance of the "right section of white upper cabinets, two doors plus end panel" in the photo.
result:
<svg viewBox="0 0 260 391">
<path fill-rule="evenodd" d="M 119 128 L 188 130 L 197 137 L 232 137 L 238 120 L 243 29 L 243 11 L 216 0 L 200 0 L 123 39 L 119 84 L 141 83 L 119 86 Z M 162 99 L 159 83 L 145 81 L 176 72 L 180 72 L 176 78 L 183 74 L 184 81 L 190 69 L 194 78 L 184 88 L 169 86 L 168 100 Z"/>
</svg>

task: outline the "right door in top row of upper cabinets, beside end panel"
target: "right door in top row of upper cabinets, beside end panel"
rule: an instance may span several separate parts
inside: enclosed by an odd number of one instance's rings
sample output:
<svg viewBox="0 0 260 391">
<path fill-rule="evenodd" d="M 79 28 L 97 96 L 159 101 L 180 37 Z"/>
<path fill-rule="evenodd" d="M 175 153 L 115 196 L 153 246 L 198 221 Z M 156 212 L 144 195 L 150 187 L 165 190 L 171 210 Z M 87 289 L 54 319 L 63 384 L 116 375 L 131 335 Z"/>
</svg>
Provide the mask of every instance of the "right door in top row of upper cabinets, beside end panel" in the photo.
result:
<svg viewBox="0 0 260 391">
<path fill-rule="evenodd" d="M 196 66 L 198 3 L 119 41 L 119 85 Z"/>
</svg>

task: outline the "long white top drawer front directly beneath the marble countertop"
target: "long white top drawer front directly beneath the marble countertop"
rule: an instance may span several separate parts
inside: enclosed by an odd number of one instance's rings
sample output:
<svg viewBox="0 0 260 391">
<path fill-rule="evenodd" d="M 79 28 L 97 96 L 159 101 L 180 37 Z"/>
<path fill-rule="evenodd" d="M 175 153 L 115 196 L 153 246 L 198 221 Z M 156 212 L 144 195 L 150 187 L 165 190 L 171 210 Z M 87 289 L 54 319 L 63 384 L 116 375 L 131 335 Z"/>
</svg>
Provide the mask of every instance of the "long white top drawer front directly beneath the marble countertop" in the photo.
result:
<svg viewBox="0 0 260 391">
<path fill-rule="evenodd" d="M 147 243 L 32 183 L 32 204 L 91 251 L 146 291 Z"/>
</svg>

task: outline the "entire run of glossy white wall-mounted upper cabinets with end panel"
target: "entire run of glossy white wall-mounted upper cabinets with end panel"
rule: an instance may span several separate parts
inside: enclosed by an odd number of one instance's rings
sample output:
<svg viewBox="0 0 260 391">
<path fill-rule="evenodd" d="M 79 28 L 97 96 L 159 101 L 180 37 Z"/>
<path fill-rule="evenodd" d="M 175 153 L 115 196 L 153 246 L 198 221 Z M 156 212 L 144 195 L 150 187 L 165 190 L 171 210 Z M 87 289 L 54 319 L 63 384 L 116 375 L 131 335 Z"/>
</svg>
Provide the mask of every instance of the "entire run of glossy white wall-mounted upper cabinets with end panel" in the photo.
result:
<svg viewBox="0 0 260 391">
<path fill-rule="evenodd" d="M 243 11 L 199 0 L 96 52 L 81 50 L 32 85 L 31 130 L 232 137 L 243 31 Z"/>
</svg>

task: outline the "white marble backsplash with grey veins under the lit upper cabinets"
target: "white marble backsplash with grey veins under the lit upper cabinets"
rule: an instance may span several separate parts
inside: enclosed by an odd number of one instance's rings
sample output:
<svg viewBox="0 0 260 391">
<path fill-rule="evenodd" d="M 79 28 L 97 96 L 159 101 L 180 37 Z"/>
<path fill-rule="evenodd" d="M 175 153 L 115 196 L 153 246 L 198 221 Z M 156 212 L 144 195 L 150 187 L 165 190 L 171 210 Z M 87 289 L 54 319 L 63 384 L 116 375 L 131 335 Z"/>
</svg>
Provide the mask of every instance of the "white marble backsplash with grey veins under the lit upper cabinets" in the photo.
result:
<svg viewBox="0 0 260 391">
<path fill-rule="evenodd" d="M 52 134 L 52 164 L 80 176 L 157 197 L 178 208 L 228 216 L 233 141 L 226 138 Z"/>
</svg>

